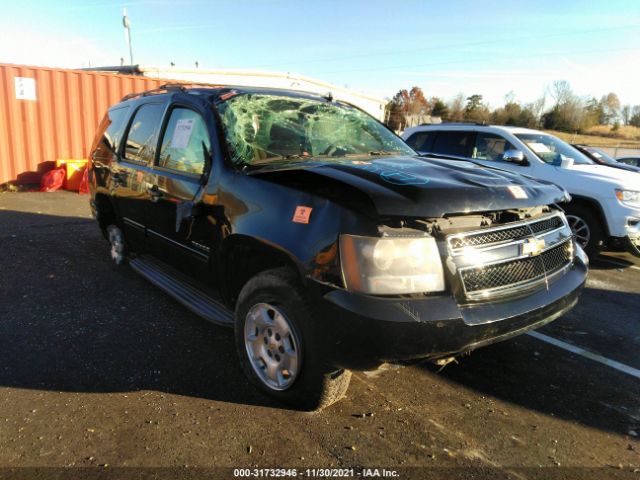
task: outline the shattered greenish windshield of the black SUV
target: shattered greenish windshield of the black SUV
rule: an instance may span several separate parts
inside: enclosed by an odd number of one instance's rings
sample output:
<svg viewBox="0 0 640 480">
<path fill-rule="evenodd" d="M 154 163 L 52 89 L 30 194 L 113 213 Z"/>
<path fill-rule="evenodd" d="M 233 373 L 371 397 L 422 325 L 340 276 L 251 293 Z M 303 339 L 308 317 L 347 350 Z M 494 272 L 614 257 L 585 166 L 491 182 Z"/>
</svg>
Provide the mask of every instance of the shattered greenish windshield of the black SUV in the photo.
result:
<svg viewBox="0 0 640 480">
<path fill-rule="evenodd" d="M 305 97 L 240 94 L 220 104 L 234 165 L 352 155 L 415 155 L 383 125 L 349 105 Z"/>
</svg>

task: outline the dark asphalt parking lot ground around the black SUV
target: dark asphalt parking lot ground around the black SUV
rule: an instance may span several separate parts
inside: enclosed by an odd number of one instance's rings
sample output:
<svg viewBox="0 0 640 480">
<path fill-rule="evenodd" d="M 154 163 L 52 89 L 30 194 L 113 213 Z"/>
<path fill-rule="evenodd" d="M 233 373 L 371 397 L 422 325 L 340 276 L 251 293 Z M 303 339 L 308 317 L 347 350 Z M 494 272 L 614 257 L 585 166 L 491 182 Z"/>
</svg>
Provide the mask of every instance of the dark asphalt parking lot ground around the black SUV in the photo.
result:
<svg viewBox="0 0 640 480">
<path fill-rule="evenodd" d="M 640 478 L 628 254 L 593 261 L 578 306 L 541 335 L 442 370 L 357 373 L 346 399 L 309 414 L 248 384 L 230 330 L 112 266 L 86 196 L 0 194 L 0 245 L 0 478 Z"/>
</svg>

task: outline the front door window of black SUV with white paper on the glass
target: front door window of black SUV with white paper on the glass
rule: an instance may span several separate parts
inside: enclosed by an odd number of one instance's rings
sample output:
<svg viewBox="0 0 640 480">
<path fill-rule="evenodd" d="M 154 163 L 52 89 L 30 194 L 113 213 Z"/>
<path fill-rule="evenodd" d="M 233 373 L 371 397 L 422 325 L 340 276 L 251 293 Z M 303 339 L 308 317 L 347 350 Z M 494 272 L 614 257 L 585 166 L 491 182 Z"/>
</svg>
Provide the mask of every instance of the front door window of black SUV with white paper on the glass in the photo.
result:
<svg viewBox="0 0 640 480">
<path fill-rule="evenodd" d="M 201 175 L 205 152 L 211 151 L 209 133 L 199 113 L 174 108 L 162 138 L 158 166 Z"/>
</svg>

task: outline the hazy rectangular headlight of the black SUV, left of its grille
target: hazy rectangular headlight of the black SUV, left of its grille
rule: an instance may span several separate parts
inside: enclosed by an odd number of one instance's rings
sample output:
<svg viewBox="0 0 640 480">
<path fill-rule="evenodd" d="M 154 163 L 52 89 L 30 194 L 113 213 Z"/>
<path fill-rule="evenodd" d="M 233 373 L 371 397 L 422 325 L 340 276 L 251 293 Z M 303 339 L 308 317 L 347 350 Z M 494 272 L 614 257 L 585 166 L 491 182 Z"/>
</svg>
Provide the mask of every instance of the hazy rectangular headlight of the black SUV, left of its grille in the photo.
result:
<svg viewBox="0 0 640 480">
<path fill-rule="evenodd" d="M 374 295 L 441 292 L 444 273 L 432 237 L 340 235 L 340 263 L 348 290 Z"/>
</svg>

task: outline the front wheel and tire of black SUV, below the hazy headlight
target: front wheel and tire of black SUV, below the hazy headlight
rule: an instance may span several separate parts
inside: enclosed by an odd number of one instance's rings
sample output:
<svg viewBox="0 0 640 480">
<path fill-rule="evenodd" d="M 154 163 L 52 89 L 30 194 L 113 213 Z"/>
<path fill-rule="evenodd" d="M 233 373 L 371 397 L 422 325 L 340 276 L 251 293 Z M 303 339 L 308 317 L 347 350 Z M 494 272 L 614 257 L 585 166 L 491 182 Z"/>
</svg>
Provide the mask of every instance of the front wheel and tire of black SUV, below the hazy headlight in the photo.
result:
<svg viewBox="0 0 640 480">
<path fill-rule="evenodd" d="M 345 395 L 351 372 L 323 356 L 313 310 L 291 269 L 267 270 L 249 280 L 235 317 L 240 365 L 260 390 L 307 411 L 321 410 Z"/>
</svg>

